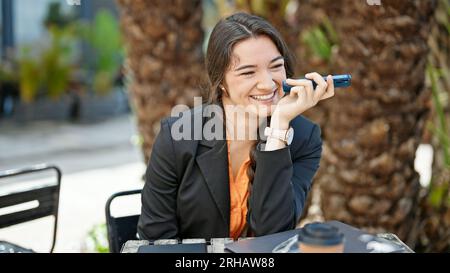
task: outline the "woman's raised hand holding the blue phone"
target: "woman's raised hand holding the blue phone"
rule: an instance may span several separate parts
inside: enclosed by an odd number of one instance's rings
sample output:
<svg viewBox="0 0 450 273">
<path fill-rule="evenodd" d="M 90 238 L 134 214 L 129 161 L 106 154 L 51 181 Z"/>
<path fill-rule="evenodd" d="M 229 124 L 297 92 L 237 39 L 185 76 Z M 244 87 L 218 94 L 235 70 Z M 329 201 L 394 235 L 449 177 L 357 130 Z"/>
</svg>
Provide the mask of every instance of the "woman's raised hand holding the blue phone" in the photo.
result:
<svg viewBox="0 0 450 273">
<path fill-rule="evenodd" d="M 334 96 L 334 85 L 331 75 L 328 75 L 327 81 L 316 72 L 306 74 L 305 78 L 286 80 L 287 84 L 293 87 L 290 93 L 277 103 L 272 114 L 270 127 L 287 129 L 289 128 L 289 122 L 296 116 L 314 107 L 319 101 Z M 309 79 L 317 83 L 315 90 Z"/>
</svg>

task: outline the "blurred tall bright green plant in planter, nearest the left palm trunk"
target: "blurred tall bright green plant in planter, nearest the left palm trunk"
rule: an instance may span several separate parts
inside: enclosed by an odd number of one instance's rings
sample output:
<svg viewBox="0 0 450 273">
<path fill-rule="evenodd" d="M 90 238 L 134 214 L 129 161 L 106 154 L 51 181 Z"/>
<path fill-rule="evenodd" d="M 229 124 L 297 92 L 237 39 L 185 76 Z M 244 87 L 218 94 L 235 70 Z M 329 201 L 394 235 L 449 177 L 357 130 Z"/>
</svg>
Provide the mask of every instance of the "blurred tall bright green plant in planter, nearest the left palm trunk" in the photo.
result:
<svg viewBox="0 0 450 273">
<path fill-rule="evenodd" d="M 123 45 L 117 19 L 107 10 L 100 10 L 92 23 L 81 24 L 82 37 L 92 49 L 90 87 L 93 92 L 81 97 L 81 117 L 94 120 L 129 110 L 122 90 Z"/>
</svg>

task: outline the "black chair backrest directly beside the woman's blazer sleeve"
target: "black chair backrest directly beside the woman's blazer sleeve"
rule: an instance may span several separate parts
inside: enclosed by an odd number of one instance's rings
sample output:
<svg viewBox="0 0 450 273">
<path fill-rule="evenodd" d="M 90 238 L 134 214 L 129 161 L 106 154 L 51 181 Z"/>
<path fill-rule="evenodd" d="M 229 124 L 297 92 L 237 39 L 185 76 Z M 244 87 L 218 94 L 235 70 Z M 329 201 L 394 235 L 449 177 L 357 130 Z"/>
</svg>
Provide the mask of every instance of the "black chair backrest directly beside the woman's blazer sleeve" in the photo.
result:
<svg viewBox="0 0 450 273">
<path fill-rule="evenodd" d="M 142 190 L 131 190 L 118 192 L 113 194 L 108 201 L 106 201 L 106 226 L 108 232 L 109 251 L 111 253 L 119 253 L 122 246 L 128 240 L 138 240 L 137 224 L 139 220 L 139 214 L 113 217 L 111 215 L 111 203 L 117 197 L 140 194 L 141 191 Z"/>
</svg>

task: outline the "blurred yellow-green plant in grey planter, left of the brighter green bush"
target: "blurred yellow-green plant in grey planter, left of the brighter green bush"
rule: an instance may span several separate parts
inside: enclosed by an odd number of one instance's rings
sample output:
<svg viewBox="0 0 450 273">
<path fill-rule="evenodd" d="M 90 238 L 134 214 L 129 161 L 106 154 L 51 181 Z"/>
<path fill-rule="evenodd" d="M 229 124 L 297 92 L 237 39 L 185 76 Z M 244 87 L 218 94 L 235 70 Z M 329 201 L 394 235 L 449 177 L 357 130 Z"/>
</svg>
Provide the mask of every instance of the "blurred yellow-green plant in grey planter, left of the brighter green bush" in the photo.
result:
<svg viewBox="0 0 450 273">
<path fill-rule="evenodd" d="M 49 44 L 24 46 L 18 58 L 20 103 L 16 120 L 69 117 L 71 99 L 67 95 L 75 67 L 73 30 L 49 28 Z"/>
</svg>

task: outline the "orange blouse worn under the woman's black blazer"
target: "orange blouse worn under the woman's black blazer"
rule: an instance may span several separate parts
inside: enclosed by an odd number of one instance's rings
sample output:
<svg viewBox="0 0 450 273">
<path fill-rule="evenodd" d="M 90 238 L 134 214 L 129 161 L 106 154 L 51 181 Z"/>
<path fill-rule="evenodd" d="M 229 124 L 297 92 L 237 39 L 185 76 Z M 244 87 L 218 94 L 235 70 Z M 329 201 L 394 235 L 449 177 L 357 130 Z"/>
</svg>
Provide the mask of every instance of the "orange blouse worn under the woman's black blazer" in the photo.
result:
<svg viewBox="0 0 450 273">
<path fill-rule="evenodd" d="M 230 143 L 228 145 L 228 176 L 230 179 L 230 237 L 237 239 L 241 236 L 247 222 L 248 176 L 247 168 L 250 166 L 250 158 L 242 163 L 236 175 L 233 177 L 230 160 Z"/>
</svg>

